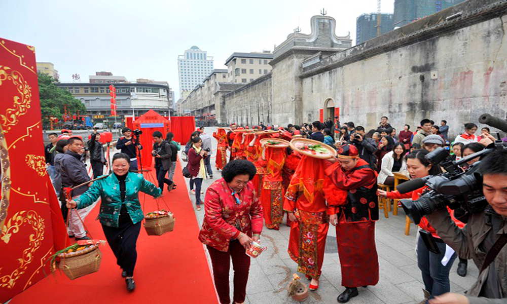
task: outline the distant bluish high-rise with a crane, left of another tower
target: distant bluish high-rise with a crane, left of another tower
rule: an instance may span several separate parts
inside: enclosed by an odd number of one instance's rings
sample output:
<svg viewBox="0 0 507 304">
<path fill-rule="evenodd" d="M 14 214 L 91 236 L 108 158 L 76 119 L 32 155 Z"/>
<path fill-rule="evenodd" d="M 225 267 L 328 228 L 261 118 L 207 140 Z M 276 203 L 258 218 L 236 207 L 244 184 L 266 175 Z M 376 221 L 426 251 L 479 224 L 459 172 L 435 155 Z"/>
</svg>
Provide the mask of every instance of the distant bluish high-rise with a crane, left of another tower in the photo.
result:
<svg viewBox="0 0 507 304">
<path fill-rule="evenodd" d="M 392 14 L 381 14 L 380 19 L 380 34 L 392 30 Z M 364 43 L 367 40 L 375 38 L 377 36 L 377 13 L 363 14 L 357 17 L 356 20 L 356 33 L 355 33 L 355 44 Z"/>
</svg>

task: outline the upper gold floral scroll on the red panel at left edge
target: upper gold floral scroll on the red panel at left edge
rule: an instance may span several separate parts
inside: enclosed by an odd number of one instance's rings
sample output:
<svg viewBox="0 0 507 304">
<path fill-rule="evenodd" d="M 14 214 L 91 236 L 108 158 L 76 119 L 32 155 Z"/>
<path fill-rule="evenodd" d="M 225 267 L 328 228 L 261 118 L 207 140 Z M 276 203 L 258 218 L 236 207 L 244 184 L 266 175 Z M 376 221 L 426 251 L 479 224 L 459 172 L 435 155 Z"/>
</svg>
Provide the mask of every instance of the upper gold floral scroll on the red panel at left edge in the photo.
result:
<svg viewBox="0 0 507 304">
<path fill-rule="evenodd" d="M 10 67 L 0 65 L 0 86 L 4 81 L 12 81 L 16 86 L 20 96 L 13 97 L 13 107 L 7 108 L 5 115 L 0 113 L 0 124 L 4 127 L 4 133 L 7 133 L 18 123 L 20 116 L 28 112 L 31 104 L 31 87 L 23 79 L 23 75 Z"/>
</svg>

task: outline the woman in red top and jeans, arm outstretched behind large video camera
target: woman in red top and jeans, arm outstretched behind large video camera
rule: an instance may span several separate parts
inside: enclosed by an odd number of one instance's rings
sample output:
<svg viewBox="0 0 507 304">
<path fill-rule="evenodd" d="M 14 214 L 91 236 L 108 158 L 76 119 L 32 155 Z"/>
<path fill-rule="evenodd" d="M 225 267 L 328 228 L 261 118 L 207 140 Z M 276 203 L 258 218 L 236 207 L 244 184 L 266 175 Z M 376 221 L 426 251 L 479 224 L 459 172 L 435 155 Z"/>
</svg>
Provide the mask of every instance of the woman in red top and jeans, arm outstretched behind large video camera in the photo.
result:
<svg viewBox="0 0 507 304">
<path fill-rule="evenodd" d="M 409 171 L 411 178 L 421 178 L 427 175 L 435 175 L 440 173 L 438 166 L 432 166 L 424 157 L 429 152 L 424 149 L 415 150 L 407 155 L 407 170 Z M 412 200 L 419 199 L 421 193 L 425 191 L 426 187 L 419 188 L 406 194 L 400 194 L 397 191 L 385 192 L 378 190 L 379 196 L 387 197 L 389 199 L 407 199 Z M 448 208 L 451 218 L 454 220 L 456 225 L 460 228 L 464 226 L 464 223 L 460 222 L 454 217 L 454 210 Z M 437 231 L 429 224 L 426 217 L 421 218 L 419 222 L 420 229 L 429 232 L 433 241 L 440 250 L 440 253 L 433 253 L 428 250 L 422 238 L 419 238 L 417 243 L 417 265 L 422 273 L 422 280 L 424 282 L 424 300 L 425 303 L 428 299 L 433 298 L 436 295 L 441 295 L 450 290 L 449 282 L 449 271 L 451 270 L 452 264 L 456 259 L 456 253 L 453 253 L 449 259 L 444 260 L 446 253 L 446 244 L 438 236 Z M 445 265 L 443 265 L 445 263 Z"/>
</svg>

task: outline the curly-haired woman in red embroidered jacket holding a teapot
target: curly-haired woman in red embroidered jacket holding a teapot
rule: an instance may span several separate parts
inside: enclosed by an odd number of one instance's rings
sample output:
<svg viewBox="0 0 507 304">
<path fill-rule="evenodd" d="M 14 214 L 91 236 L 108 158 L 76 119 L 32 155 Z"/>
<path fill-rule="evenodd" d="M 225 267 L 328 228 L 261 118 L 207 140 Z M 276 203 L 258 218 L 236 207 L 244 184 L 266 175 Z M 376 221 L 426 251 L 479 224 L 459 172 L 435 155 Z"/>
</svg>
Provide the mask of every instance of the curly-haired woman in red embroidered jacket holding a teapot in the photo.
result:
<svg viewBox="0 0 507 304">
<path fill-rule="evenodd" d="M 230 259 L 234 268 L 234 303 L 243 303 L 250 268 L 245 249 L 259 241 L 262 232 L 262 206 L 253 195 L 250 180 L 255 166 L 246 160 L 229 162 L 222 178 L 206 191 L 204 220 L 199 241 L 206 244 L 220 303 L 229 304 Z"/>
</svg>

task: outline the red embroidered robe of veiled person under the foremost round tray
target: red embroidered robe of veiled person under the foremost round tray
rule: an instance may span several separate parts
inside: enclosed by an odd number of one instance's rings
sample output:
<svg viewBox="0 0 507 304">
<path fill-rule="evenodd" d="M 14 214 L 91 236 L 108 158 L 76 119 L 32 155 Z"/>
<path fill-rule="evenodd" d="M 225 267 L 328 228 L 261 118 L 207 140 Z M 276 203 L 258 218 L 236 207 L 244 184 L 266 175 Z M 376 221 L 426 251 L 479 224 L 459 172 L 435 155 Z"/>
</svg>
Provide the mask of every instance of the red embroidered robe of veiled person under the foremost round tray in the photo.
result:
<svg viewBox="0 0 507 304">
<path fill-rule="evenodd" d="M 294 212 L 288 254 L 298 263 L 298 271 L 319 279 L 324 260 L 329 216 L 322 186 L 324 161 L 302 156 L 287 187 L 283 209 Z"/>
</svg>

